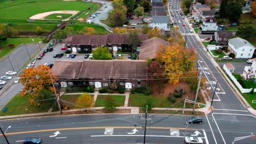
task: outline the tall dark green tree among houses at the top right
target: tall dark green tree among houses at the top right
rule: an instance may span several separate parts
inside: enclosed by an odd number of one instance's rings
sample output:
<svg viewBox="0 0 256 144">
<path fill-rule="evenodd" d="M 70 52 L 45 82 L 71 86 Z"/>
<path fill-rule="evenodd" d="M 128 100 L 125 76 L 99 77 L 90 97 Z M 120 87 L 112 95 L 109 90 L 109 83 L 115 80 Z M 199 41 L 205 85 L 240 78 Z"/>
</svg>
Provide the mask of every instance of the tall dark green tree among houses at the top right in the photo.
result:
<svg viewBox="0 0 256 144">
<path fill-rule="evenodd" d="M 240 17 L 242 14 L 242 5 L 235 2 L 230 2 L 226 6 L 226 18 L 228 18 L 229 22 L 239 23 Z"/>
</svg>

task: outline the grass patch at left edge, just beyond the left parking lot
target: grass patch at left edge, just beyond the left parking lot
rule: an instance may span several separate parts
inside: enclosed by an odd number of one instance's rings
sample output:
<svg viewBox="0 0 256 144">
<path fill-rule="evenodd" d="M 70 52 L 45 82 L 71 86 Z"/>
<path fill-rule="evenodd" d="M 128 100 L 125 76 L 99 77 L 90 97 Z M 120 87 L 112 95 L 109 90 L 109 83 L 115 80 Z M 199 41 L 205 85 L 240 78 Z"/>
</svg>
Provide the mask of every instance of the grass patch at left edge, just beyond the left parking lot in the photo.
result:
<svg viewBox="0 0 256 144">
<path fill-rule="evenodd" d="M 40 41 L 42 39 L 40 38 L 33 38 L 34 41 Z M 32 43 L 32 38 L 7 38 L 6 43 L 0 45 L 0 58 L 3 56 L 7 55 L 10 51 L 15 49 L 16 46 L 24 43 Z M 10 48 L 8 45 L 9 44 L 14 44 L 13 48 Z"/>
</svg>

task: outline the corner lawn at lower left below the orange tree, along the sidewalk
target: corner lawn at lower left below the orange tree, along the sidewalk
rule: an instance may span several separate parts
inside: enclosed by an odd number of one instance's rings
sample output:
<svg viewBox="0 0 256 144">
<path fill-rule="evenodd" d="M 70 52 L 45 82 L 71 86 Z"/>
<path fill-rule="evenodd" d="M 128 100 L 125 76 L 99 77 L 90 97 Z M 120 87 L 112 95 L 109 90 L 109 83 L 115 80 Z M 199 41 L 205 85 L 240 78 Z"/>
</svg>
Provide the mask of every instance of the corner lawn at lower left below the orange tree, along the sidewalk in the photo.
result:
<svg viewBox="0 0 256 144">
<path fill-rule="evenodd" d="M 16 94 L 13 99 L 9 101 L 6 105 L 7 111 L 4 113 L 3 109 L 0 111 L 0 116 L 11 116 L 11 115 L 22 115 L 27 113 L 39 113 L 39 112 L 48 112 L 49 108 L 40 110 L 38 107 L 32 105 L 28 100 L 28 97 L 21 97 L 20 94 Z M 27 111 L 26 111 L 27 109 Z"/>
</svg>

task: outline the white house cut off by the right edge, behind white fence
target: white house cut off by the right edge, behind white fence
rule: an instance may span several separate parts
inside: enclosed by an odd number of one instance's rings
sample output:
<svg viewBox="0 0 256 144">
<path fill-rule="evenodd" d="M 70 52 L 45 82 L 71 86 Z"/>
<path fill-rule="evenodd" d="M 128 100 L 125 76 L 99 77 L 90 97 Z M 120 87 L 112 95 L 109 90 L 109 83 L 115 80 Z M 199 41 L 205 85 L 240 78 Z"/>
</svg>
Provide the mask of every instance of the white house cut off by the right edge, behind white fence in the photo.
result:
<svg viewBox="0 0 256 144">
<path fill-rule="evenodd" d="M 256 76 L 256 58 L 253 58 L 253 63 L 251 66 L 245 66 L 245 69 L 243 69 L 243 78 L 253 79 Z"/>
</svg>

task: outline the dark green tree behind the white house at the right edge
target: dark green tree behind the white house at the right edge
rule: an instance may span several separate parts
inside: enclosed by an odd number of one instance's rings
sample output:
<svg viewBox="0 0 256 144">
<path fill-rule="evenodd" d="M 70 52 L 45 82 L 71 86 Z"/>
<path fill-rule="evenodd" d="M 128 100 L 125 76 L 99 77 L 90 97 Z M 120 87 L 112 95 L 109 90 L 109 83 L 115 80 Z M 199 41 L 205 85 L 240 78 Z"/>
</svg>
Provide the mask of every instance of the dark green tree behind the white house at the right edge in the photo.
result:
<svg viewBox="0 0 256 144">
<path fill-rule="evenodd" d="M 239 26 L 236 32 L 237 37 L 241 37 L 243 39 L 251 39 L 255 34 L 254 27 L 250 25 Z"/>
</svg>

